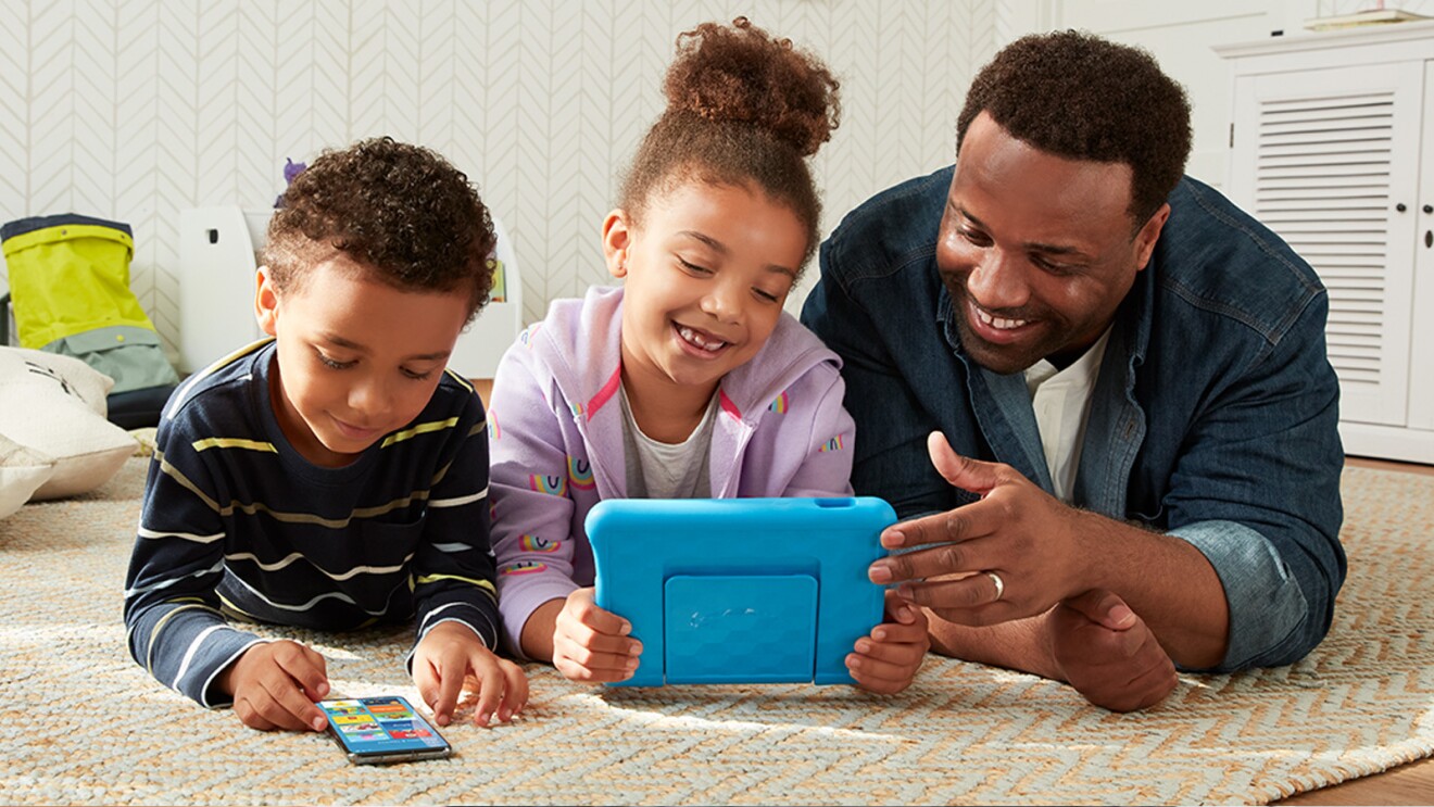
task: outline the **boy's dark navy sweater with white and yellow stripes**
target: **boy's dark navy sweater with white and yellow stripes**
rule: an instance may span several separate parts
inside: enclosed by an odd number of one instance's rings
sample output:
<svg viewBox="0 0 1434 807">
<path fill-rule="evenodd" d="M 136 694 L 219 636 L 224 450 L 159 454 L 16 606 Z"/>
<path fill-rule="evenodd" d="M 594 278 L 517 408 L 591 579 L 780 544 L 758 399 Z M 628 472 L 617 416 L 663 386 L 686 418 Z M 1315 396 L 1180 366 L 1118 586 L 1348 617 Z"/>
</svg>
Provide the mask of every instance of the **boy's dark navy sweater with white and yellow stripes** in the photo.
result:
<svg viewBox="0 0 1434 807">
<path fill-rule="evenodd" d="M 472 386 L 446 373 L 413 423 L 326 469 L 280 430 L 274 353 L 250 345 L 165 407 L 125 582 L 130 655 L 221 707 L 215 677 L 261 641 L 231 619 L 348 631 L 417 616 L 416 642 L 457 621 L 495 648 L 488 433 Z"/>
</svg>

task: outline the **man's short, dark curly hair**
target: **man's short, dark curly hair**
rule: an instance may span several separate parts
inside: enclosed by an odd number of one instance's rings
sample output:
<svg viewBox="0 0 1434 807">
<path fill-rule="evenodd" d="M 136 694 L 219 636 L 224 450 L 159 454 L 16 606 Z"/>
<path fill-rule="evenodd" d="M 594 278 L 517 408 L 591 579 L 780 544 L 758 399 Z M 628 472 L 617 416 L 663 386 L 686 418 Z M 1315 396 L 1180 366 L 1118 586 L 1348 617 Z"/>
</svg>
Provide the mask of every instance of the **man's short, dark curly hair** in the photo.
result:
<svg viewBox="0 0 1434 807">
<path fill-rule="evenodd" d="M 1068 159 L 1131 168 L 1139 229 L 1174 191 L 1190 156 L 1190 103 L 1154 56 L 1090 33 L 1024 36 L 977 73 L 956 151 L 981 112 L 1007 133 Z"/>
</svg>

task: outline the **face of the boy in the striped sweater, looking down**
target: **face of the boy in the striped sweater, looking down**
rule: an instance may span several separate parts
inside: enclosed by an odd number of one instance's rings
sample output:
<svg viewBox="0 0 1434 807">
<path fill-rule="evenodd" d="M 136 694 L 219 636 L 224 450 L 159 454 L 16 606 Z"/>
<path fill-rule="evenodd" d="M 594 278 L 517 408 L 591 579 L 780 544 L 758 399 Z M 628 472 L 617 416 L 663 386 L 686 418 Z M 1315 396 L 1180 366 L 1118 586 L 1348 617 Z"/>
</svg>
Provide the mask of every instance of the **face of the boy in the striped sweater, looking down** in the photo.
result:
<svg viewBox="0 0 1434 807">
<path fill-rule="evenodd" d="M 409 424 L 467 323 L 466 291 L 400 291 L 343 252 L 287 292 L 258 271 L 254 308 L 278 343 L 270 386 L 284 436 L 311 463 L 343 466 Z"/>
</svg>

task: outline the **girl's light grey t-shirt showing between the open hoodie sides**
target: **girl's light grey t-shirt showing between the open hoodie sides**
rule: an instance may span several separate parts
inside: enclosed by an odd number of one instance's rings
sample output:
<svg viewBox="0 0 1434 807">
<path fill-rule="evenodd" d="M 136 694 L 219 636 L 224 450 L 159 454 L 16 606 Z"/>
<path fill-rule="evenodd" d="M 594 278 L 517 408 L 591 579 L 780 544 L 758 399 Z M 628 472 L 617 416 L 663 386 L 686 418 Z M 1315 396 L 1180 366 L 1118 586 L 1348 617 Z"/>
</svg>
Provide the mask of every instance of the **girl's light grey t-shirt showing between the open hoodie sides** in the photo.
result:
<svg viewBox="0 0 1434 807">
<path fill-rule="evenodd" d="M 706 499 L 711 496 L 713 423 L 717 420 L 717 396 L 707 403 L 707 413 L 681 443 L 661 443 L 642 433 L 632 417 L 627 390 L 622 400 L 622 443 L 627 454 L 627 483 L 631 499 Z"/>
</svg>

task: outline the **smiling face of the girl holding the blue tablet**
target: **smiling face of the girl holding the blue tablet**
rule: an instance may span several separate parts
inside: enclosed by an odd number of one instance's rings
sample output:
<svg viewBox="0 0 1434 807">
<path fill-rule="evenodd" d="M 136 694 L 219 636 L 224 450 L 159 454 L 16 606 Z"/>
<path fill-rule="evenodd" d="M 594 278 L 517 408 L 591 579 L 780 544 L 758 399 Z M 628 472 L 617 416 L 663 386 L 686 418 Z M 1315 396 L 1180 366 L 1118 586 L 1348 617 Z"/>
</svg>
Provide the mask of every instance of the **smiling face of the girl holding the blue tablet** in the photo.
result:
<svg viewBox="0 0 1434 807">
<path fill-rule="evenodd" d="M 687 181 L 602 225 L 608 271 L 627 288 L 624 380 L 716 391 L 761 350 L 807 248 L 797 216 L 753 185 Z M 632 390 L 628 390 L 632 394 Z"/>
</svg>

